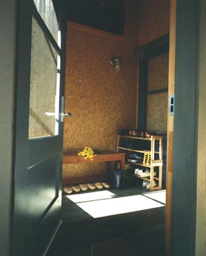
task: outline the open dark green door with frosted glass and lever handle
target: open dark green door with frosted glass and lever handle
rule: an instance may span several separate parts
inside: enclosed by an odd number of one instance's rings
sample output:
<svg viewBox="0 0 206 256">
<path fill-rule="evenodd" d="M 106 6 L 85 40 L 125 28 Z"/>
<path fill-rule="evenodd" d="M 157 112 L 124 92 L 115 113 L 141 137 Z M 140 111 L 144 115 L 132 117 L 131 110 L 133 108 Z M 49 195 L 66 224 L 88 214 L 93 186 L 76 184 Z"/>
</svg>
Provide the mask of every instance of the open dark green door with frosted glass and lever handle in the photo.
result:
<svg viewBox="0 0 206 256">
<path fill-rule="evenodd" d="M 17 7 L 12 255 L 38 256 L 61 224 L 64 47 L 53 1 Z"/>
</svg>

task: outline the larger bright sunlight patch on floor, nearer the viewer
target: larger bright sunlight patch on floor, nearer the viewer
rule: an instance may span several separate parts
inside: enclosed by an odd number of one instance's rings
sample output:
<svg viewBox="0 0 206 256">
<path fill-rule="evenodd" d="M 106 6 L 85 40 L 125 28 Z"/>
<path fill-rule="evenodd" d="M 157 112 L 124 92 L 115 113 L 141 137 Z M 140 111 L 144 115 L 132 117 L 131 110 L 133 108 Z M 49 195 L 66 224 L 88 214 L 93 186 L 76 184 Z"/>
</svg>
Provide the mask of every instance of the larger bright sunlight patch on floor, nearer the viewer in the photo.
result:
<svg viewBox="0 0 206 256">
<path fill-rule="evenodd" d="M 142 195 L 77 203 L 76 205 L 86 211 L 93 218 L 125 214 L 127 212 L 165 206 L 164 204 L 158 203 Z"/>
</svg>

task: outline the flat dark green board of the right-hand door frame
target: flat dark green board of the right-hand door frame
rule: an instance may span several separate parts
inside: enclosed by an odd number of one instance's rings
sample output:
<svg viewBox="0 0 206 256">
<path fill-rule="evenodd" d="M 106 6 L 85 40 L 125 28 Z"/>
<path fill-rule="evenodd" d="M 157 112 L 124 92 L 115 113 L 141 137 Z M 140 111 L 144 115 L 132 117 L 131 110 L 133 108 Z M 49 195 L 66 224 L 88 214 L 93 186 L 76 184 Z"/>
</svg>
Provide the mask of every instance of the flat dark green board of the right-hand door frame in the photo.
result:
<svg viewBox="0 0 206 256">
<path fill-rule="evenodd" d="M 176 1 L 170 248 L 176 256 L 195 255 L 199 2 Z"/>
</svg>

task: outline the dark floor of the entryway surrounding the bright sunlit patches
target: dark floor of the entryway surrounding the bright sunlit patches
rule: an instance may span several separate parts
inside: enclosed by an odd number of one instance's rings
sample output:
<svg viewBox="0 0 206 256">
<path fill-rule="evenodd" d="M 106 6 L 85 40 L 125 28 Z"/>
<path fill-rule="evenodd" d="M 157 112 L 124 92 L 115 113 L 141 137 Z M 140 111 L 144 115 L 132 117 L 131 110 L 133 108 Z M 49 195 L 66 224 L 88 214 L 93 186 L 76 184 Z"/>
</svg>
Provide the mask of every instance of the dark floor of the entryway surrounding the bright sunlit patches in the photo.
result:
<svg viewBox="0 0 206 256">
<path fill-rule="evenodd" d="M 140 184 L 109 189 L 114 198 L 142 195 Z M 93 218 L 65 195 L 63 223 L 47 256 L 164 256 L 165 207 Z"/>
</svg>

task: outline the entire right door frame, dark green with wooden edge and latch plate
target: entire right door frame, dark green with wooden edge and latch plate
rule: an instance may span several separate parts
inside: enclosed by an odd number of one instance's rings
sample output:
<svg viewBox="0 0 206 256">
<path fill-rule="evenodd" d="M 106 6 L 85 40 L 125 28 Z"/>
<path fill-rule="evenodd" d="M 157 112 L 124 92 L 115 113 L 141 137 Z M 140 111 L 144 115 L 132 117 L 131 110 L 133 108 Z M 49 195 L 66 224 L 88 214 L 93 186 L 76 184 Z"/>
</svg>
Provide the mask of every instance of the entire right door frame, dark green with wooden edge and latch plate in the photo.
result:
<svg viewBox="0 0 206 256">
<path fill-rule="evenodd" d="M 205 62 L 204 0 L 171 0 L 168 120 L 167 255 L 204 255 L 205 229 Z M 172 120 L 173 119 L 173 120 Z M 203 170 L 203 171 L 202 171 Z"/>
</svg>

